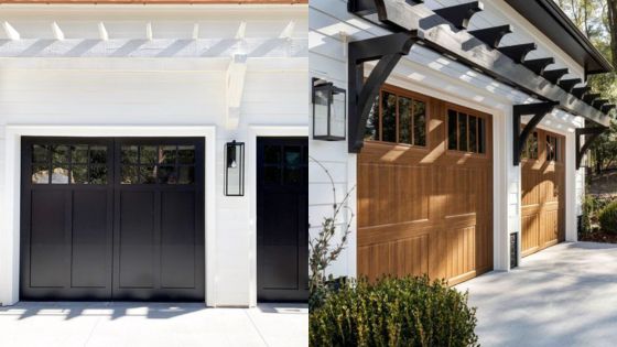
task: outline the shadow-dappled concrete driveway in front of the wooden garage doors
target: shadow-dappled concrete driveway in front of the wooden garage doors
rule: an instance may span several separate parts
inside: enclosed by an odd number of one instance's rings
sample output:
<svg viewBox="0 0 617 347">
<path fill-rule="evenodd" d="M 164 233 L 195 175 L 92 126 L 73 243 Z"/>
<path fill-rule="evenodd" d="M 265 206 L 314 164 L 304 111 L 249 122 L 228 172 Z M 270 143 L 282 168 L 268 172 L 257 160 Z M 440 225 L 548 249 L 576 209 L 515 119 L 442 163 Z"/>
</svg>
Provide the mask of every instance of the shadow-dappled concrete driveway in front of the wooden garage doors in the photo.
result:
<svg viewBox="0 0 617 347">
<path fill-rule="evenodd" d="M 617 245 L 561 243 L 456 288 L 483 346 L 617 346 Z"/>
</svg>

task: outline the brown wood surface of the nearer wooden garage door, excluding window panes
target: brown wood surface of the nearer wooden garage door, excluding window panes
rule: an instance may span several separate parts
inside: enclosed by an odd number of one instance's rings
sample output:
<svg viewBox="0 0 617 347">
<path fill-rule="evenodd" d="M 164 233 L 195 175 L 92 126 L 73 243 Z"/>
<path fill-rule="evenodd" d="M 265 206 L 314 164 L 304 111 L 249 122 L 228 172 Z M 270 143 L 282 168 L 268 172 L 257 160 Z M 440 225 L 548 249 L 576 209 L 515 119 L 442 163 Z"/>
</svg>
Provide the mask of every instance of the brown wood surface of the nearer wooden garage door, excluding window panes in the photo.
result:
<svg viewBox="0 0 617 347">
<path fill-rule="evenodd" d="M 458 283 L 492 269 L 491 119 L 486 154 L 446 150 L 446 113 L 427 99 L 427 147 L 367 141 L 358 155 L 358 274 Z M 457 107 L 456 107 L 457 108 Z"/>
</svg>

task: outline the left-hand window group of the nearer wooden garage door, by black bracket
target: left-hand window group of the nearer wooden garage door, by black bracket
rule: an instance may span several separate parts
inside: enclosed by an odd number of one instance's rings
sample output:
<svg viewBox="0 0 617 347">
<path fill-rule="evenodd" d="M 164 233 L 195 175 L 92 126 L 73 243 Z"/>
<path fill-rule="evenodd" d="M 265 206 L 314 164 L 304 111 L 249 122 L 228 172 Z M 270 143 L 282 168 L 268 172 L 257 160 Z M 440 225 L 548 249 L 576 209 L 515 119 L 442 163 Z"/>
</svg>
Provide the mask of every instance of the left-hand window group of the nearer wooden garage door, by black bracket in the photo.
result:
<svg viewBox="0 0 617 347">
<path fill-rule="evenodd" d="M 426 147 L 426 102 L 409 94 L 381 90 L 365 140 Z"/>
</svg>

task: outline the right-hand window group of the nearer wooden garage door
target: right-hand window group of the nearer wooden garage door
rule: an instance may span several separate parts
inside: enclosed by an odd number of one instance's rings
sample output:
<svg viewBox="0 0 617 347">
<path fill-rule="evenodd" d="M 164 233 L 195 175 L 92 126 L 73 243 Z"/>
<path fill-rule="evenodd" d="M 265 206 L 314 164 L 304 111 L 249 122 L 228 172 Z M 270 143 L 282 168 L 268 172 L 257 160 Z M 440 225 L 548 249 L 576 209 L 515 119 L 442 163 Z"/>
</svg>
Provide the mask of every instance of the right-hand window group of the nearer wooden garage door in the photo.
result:
<svg viewBox="0 0 617 347">
<path fill-rule="evenodd" d="M 447 149 L 468 153 L 486 153 L 486 120 L 484 117 L 450 109 L 447 111 Z"/>
</svg>

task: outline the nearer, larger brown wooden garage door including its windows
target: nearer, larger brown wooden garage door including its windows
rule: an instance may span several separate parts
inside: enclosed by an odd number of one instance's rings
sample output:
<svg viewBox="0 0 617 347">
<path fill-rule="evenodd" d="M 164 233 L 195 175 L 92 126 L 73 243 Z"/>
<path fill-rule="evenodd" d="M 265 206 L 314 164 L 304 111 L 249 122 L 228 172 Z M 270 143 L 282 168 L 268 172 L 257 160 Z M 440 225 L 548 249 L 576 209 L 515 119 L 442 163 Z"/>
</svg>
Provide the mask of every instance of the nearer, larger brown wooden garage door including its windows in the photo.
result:
<svg viewBox="0 0 617 347">
<path fill-rule="evenodd" d="M 385 87 L 358 156 L 358 273 L 492 269 L 491 117 Z"/>
</svg>

